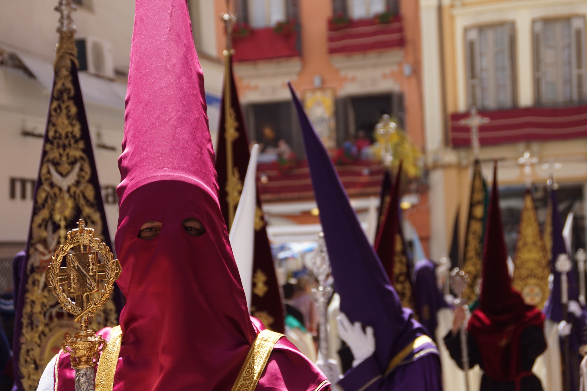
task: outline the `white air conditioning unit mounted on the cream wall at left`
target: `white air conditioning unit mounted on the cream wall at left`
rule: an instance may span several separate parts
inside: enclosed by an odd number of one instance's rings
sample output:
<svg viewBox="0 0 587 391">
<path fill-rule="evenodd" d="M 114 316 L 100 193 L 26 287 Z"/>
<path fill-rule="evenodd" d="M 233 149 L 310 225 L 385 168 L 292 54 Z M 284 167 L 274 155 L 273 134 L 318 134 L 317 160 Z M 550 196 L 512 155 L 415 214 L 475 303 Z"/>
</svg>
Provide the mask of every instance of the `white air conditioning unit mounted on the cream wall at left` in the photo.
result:
<svg viewBox="0 0 587 391">
<path fill-rule="evenodd" d="M 83 37 L 76 39 L 77 70 L 85 70 L 96 76 L 114 79 L 114 58 L 112 43 L 96 37 Z"/>
</svg>

